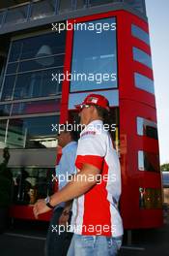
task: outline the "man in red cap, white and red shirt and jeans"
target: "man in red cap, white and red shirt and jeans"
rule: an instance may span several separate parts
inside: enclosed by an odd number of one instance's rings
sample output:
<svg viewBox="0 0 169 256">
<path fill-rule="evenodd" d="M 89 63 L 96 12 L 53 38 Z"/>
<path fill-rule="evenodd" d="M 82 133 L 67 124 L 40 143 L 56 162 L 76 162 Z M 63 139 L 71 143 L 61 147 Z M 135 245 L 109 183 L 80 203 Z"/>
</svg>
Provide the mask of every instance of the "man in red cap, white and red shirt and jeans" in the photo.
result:
<svg viewBox="0 0 169 256">
<path fill-rule="evenodd" d="M 123 225 L 118 211 L 119 159 L 103 126 L 109 104 L 105 97 L 91 94 L 76 108 L 80 111 L 80 123 L 86 126 L 78 141 L 77 174 L 50 197 L 50 205 L 74 199 L 71 222 L 74 236 L 69 256 L 114 256 L 122 244 Z M 38 217 L 48 210 L 41 200 L 35 205 L 34 214 Z"/>
</svg>

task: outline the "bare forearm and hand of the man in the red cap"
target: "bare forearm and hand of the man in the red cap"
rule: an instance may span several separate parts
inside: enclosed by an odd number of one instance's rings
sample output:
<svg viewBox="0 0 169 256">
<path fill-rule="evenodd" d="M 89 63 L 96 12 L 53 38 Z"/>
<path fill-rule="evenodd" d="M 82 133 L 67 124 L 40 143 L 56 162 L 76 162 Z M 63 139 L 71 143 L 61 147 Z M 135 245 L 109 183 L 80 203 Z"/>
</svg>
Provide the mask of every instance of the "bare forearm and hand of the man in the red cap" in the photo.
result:
<svg viewBox="0 0 169 256">
<path fill-rule="evenodd" d="M 73 179 L 60 191 L 50 197 L 50 205 L 55 207 L 62 202 L 70 201 L 73 198 L 85 194 L 97 183 L 97 176 L 100 170 L 89 164 L 83 164 L 81 172 L 73 176 Z M 49 211 L 44 200 L 39 200 L 34 206 L 34 215 L 38 218 L 39 214 Z"/>
</svg>

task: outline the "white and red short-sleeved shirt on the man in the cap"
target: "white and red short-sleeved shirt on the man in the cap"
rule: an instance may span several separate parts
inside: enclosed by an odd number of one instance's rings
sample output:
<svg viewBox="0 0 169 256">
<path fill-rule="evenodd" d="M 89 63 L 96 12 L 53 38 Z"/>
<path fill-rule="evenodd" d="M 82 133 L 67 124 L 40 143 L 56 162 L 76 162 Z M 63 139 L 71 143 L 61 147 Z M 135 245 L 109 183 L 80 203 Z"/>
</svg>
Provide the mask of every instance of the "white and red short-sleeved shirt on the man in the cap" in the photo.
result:
<svg viewBox="0 0 169 256">
<path fill-rule="evenodd" d="M 98 183 L 73 201 L 73 232 L 87 236 L 122 236 L 123 224 L 118 210 L 121 195 L 120 163 L 102 121 L 91 122 L 81 132 L 76 154 L 77 173 L 80 174 L 84 163 L 96 166 L 101 172 L 97 176 Z"/>
</svg>

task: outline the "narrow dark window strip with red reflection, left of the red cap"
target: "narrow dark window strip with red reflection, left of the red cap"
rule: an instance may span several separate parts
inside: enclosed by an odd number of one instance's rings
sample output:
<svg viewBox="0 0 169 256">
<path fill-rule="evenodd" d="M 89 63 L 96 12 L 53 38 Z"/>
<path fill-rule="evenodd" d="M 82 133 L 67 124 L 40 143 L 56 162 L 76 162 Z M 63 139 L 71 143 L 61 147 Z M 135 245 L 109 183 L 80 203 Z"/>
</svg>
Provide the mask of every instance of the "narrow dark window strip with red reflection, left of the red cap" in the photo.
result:
<svg viewBox="0 0 169 256">
<path fill-rule="evenodd" d="M 14 103 L 12 114 L 60 112 L 61 100 Z"/>
</svg>

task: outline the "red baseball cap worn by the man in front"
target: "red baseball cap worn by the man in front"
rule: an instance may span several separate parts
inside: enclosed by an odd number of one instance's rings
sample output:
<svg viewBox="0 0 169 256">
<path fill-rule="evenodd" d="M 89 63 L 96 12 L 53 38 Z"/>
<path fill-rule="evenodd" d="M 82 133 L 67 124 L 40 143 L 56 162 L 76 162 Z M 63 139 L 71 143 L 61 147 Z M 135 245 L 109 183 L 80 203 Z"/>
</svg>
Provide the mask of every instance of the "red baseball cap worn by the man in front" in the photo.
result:
<svg viewBox="0 0 169 256">
<path fill-rule="evenodd" d="M 96 105 L 106 111 L 110 110 L 108 100 L 99 94 L 89 94 L 81 104 L 75 105 L 75 108 L 80 110 L 83 105 Z"/>
</svg>

